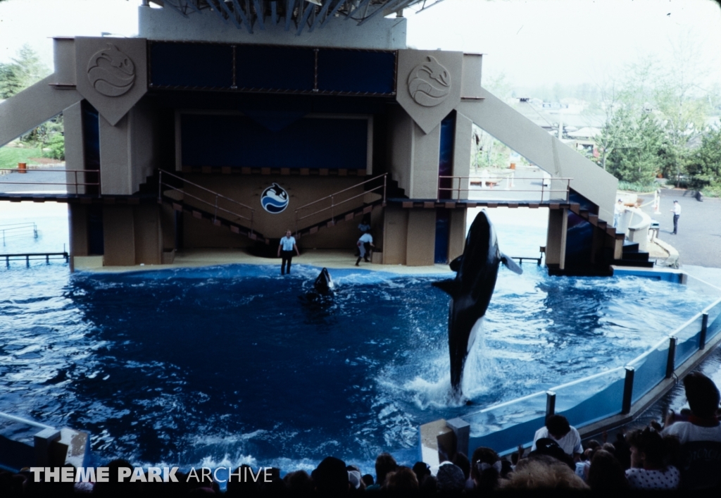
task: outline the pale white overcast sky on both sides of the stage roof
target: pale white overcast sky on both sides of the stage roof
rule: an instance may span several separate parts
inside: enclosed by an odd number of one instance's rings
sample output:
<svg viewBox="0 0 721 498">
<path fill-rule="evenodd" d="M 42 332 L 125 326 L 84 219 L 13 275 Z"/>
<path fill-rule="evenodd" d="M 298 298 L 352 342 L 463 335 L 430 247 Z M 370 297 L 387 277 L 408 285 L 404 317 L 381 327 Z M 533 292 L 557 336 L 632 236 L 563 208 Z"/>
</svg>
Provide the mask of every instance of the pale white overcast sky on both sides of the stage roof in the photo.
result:
<svg viewBox="0 0 721 498">
<path fill-rule="evenodd" d="M 53 35 L 135 35 L 139 4 L 1 1 L 0 62 L 29 43 L 51 66 Z M 689 36 L 709 81 L 721 82 L 721 8 L 713 0 L 445 0 L 405 14 L 410 46 L 484 53 L 486 74 L 517 85 L 594 83 L 652 55 L 670 64 L 671 43 Z"/>
</svg>

